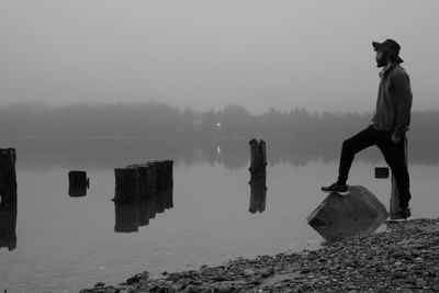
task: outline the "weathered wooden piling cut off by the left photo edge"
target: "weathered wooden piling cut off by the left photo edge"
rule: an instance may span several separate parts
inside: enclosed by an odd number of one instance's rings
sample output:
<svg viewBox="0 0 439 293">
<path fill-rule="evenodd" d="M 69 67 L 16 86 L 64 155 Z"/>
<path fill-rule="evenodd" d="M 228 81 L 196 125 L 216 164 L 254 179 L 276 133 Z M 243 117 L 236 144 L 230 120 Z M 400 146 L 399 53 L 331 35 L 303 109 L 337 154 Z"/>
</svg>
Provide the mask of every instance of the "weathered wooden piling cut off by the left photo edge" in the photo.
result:
<svg viewBox="0 0 439 293">
<path fill-rule="evenodd" d="M 0 149 L 0 199 L 2 203 L 16 202 L 15 161 L 14 148 Z"/>
</svg>

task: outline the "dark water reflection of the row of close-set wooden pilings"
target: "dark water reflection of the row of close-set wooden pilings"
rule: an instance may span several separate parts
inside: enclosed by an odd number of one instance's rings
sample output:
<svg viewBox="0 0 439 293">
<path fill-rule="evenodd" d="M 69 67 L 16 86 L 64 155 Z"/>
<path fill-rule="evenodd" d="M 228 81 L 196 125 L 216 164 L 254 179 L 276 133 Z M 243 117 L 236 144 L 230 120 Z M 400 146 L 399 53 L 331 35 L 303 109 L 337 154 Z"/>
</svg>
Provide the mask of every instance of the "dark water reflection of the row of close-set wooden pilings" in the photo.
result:
<svg viewBox="0 0 439 293">
<path fill-rule="evenodd" d="M 149 225 L 156 214 L 173 207 L 172 188 L 149 193 L 144 201 L 134 204 L 114 202 L 115 233 L 138 232 L 142 226 Z"/>
</svg>

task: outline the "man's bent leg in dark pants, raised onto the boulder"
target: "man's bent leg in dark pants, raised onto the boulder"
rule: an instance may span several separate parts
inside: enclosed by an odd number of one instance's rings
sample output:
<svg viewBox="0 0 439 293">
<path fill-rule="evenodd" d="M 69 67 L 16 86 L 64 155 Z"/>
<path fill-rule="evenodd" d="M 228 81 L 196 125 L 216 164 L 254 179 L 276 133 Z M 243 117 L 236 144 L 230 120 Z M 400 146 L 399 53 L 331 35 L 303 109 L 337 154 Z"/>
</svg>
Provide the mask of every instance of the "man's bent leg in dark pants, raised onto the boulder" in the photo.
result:
<svg viewBox="0 0 439 293">
<path fill-rule="evenodd" d="M 375 145 L 376 135 L 378 132 L 371 125 L 342 143 L 340 165 L 338 168 L 338 184 L 346 184 L 356 154 L 367 147 Z"/>
</svg>

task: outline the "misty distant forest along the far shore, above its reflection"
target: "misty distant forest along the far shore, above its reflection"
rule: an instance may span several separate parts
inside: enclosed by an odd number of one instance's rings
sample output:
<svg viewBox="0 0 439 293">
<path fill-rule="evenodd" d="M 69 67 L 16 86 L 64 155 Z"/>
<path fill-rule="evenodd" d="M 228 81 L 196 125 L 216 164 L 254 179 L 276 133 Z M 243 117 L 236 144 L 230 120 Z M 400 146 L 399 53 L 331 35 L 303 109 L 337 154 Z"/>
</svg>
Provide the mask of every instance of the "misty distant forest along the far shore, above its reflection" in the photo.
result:
<svg viewBox="0 0 439 293">
<path fill-rule="evenodd" d="M 2 137 L 262 137 L 341 139 L 365 127 L 371 114 L 270 109 L 258 115 L 239 105 L 219 111 L 180 110 L 162 103 L 0 108 Z M 414 112 L 409 137 L 439 142 L 438 111 Z"/>
</svg>

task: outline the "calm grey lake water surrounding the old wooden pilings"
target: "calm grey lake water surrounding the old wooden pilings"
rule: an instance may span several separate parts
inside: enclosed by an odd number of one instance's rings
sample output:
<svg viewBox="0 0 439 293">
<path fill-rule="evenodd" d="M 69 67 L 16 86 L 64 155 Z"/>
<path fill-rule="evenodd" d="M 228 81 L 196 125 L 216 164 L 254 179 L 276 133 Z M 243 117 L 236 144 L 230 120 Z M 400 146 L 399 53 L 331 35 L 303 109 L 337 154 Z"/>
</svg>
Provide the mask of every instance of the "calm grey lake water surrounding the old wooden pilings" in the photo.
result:
<svg viewBox="0 0 439 293">
<path fill-rule="evenodd" d="M 324 241 L 306 216 L 324 200 L 319 185 L 334 180 L 337 158 L 274 154 L 268 144 L 267 195 L 251 199 L 246 142 L 228 150 L 211 144 L 182 153 L 151 150 L 140 142 L 135 149 L 133 142 L 108 143 L 16 147 L 16 247 L 0 248 L 0 291 L 77 292 L 144 270 L 196 269 L 237 256 L 314 249 Z M 367 157 L 356 161 L 350 183 L 367 187 L 389 205 L 390 181 L 373 178 L 373 168 L 384 165 Z M 116 206 L 113 169 L 154 159 L 175 159 L 172 193 L 138 210 Z M 409 168 L 413 216 L 437 217 L 438 165 Z M 88 172 L 87 196 L 68 195 L 71 169 Z M 14 213 L 1 213 L 0 221 L 14 223 Z M 133 227 L 137 232 L 115 232 Z"/>
</svg>

